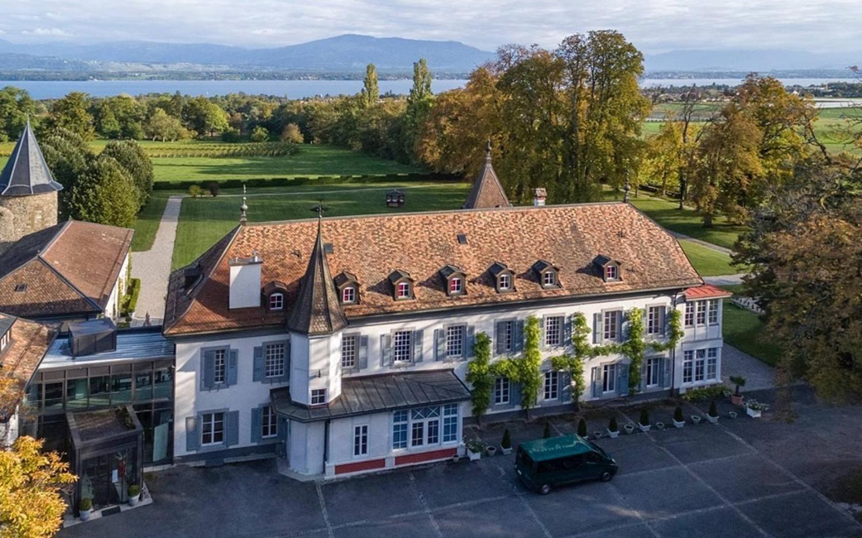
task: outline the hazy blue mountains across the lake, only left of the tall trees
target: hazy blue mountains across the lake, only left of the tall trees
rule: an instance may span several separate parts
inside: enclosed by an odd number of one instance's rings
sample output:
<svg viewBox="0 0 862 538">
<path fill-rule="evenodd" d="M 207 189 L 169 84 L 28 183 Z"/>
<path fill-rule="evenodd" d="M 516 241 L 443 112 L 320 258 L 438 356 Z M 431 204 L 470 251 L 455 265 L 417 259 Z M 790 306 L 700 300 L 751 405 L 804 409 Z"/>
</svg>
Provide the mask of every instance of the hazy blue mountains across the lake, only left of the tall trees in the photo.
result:
<svg viewBox="0 0 862 538">
<path fill-rule="evenodd" d="M 99 63 L 224 65 L 282 71 L 365 71 L 365 65 L 370 63 L 376 65 L 378 71 L 405 71 L 412 70 L 413 62 L 424 58 L 436 72 L 469 72 L 494 56 L 457 41 L 375 38 L 355 34 L 257 49 L 149 41 L 17 45 L 0 40 L 0 53 L 32 55 L 36 65 L 44 63 L 48 57 Z M 2 68 L 3 64 L 0 64 Z"/>
</svg>

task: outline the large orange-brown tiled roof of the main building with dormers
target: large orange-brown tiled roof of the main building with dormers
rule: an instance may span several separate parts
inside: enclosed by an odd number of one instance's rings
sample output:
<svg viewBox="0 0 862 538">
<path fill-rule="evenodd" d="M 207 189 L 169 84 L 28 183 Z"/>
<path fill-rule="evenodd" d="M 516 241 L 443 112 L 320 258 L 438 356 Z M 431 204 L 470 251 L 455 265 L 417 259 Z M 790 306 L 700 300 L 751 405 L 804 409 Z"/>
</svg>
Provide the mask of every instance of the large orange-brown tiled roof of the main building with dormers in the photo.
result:
<svg viewBox="0 0 862 538">
<path fill-rule="evenodd" d="M 284 312 L 263 307 L 228 310 L 228 258 L 258 251 L 264 260 L 261 285 L 284 282 L 284 306 L 290 312 L 316 232 L 315 220 L 236 228 L 199 260 L 207 268 L 206 277 L 191 291 L 184 288 L 183 269 L 172 275 L 166 334 L 284 324 Z M 461 233 L 465 244 L 458 240 Z M 618 202 L 333 218 L 323 220 L 322 235 L 332 244 L 327 254 L 332 274 L 349 271 L 359 281 L 359 304 L 343 307 L 348 321 L 703 284 L 676 239 L 634 207 Z M 599 252 L 621 262 L 620 281 L 603 281 L 592 263 Z M 541 288 L 530 269 L 540 259 L 559 268 L 560 288 Z M 506 263 L 514 271 L 514 292 L 497 294 L 489 272 L 494 263 Z M 465 294 L 450 297 L 444 290 L 440 269 L 447 264 L 465 272 Z M 393 300 L 388 276 L 395 270 L 406 271 L 415 281 L 415 299 Z"/>
</svg>

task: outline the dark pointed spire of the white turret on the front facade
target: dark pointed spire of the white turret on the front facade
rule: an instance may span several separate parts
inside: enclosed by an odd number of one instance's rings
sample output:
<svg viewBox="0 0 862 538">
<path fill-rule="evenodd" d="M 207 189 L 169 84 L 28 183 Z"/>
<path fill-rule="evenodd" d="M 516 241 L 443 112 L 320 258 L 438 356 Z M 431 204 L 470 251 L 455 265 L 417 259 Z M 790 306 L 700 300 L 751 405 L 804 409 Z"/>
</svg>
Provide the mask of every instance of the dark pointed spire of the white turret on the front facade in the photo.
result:
<svg viewBox="0 0 862 538">
<path fill-rule="evenodd" d="M 287 328 L 307 335 L 331 334 L 347 325 L 341 312 L 335 282 L 329 273 L 323 244 L 323 207 L 318 207 L 317 238 L 299 294 L 287 319 Z"/>
</svg>

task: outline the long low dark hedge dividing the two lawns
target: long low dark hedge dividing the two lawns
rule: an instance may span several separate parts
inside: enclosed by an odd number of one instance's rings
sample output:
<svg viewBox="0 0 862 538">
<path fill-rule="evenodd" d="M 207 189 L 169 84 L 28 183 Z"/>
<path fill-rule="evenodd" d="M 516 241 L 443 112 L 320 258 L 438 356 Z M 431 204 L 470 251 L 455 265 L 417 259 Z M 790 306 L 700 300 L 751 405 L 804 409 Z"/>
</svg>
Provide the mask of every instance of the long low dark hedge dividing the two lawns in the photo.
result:
<svg viewBox="0 0 862 538">
<path fill-rule="evenodd" d="M 154 182 L 154 190 L 182 190 L 188 191 L 192 185 L 197 185 L 203 190 L 214 180 L 208 181 L 178 181 L 178 182 Z M 384 183 L 384 182 L 463 182 L 461 176 L 453 174 L 438 174 L 435 172 L 414 172 L 410 174 L 386 174 L 385 176 L 316 176 L 316 177 L 272 177 L 270 179 L 228 179 L 217 182 L 221 189 L 241 189 L 245 184 L 247 188 L 255 187 L 289 187 L 294 185 L 331 185 L 337 183 Z"/>
</svg>

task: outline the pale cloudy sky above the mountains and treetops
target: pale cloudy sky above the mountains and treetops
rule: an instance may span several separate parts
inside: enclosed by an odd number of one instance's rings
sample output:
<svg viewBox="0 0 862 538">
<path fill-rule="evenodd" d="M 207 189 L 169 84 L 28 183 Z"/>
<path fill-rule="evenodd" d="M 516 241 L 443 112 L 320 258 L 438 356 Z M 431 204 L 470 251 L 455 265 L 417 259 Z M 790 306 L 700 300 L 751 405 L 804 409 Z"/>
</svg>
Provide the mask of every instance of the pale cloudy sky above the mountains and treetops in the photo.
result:
<svg viewBox="0 0 862 538">
<path fill-rule="evenodd" d="M 0 39 L 282 46 L 337 34 L 553 46 L 597 28 L 647 53 L 856 46 L 859 0 L 0 0 Z M 858 48 L 858 47 L 857 47 Z"/>
</svg>

